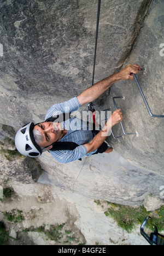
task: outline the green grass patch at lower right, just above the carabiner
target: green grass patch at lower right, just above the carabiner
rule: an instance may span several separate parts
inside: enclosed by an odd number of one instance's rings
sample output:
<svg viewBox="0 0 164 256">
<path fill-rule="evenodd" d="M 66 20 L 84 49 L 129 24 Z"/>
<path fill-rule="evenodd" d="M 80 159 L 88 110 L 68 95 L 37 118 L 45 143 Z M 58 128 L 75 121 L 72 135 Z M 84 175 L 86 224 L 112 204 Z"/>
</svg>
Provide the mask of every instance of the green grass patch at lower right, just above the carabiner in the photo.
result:
<svg viewBox="0 0 164 256">
<path fill-rule="evenodd" d="M 95 202 L 99 205 L 100 201 Z M 106 208 L 104 214 L 107 217 L 112 217 L 118 226 L 128 233 L 132 232 L 137 224 L 141 224 L 147 216 L 153 219 L 153 224 L 157 226 L 159 232 L 164 230 L 164 206 L 153 212 L 148 212 L 144 206 L 131 207 L 110 203 L 108 201 L 106 201 L 105 204 L 101 203 L 101 206 L 102 208 Z"/>
</svg>

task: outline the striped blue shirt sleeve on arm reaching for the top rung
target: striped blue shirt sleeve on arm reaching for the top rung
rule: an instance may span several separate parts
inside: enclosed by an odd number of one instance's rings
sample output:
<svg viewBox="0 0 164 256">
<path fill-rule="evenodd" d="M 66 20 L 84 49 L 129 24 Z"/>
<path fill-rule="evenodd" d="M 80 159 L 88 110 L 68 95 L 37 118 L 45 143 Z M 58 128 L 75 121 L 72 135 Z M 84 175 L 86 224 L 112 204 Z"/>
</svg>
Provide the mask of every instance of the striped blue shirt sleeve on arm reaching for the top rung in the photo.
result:
<svg viewBox="0 0 164 256">
<path fill-rule="evenodd" d="M 62 113 L 71 113 L 76 111 L 79 107 L 80 103 L 77 97 L 71 98 L 69 101 L 57 103 L 48 110 L 45 116 L 45 120 Z"/>
</svg>

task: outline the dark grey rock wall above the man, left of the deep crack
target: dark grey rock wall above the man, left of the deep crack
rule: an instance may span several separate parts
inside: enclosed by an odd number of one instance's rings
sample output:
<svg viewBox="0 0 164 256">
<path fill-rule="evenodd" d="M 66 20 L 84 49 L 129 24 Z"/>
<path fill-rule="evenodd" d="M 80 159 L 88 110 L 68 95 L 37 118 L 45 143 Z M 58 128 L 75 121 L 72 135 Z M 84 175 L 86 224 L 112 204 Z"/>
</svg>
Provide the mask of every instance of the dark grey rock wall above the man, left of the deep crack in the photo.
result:
<svg viewBox="0 0 164 256">
<path fill-rule="evenodd" d="M 103 1 L 95 80 L 125 62 L 150 2 Z M 2 124 L 43 120 L 52 104 L 91 85 L 96 18 L 97 1 L 1 3 Z"/>
</svg>

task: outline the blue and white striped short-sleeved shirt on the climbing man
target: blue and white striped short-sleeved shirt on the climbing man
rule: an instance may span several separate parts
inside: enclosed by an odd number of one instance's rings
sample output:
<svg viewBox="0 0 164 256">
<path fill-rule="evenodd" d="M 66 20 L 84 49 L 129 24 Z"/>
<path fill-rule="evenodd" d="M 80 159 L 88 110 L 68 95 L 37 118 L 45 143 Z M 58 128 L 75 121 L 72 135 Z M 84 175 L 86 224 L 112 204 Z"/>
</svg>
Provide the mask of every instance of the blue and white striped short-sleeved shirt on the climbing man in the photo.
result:
<svg viewBox="0 0 164 256">
<path fill-rule="evenodd" d="M 69 101 L 57 103 L 48 110 L 45 120 L 58 114 L 74 112 L 79 107 L 80 103 L 77 97 L 71 98 Z M 93 138 L 92 131 L 87 129 L 88 124 L 77 117 L 72 117 L 60 124 L 63 129 L 67 130 L 67 135 L 60 139 L 60 142 L 75 142 L 79 147 L 74 150 L 49 151 L 50 154 L 61 163 L 72 162 L 83 158 L 86 155 L 86 148 L 83 144 L 89 143 Z M 87 155 L 92 155 L 95 152 L 96 150 Z"/>
</svg>

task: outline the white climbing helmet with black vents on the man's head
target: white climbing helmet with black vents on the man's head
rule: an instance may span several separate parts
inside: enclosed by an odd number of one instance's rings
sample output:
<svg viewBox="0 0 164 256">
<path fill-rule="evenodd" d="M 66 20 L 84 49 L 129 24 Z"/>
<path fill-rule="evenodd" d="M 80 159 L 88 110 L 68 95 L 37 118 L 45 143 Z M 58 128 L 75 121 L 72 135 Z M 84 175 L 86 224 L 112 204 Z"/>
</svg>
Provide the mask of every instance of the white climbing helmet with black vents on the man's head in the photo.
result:
<svg viewBox="0 0 164 256">
<path fill-rule="evenodd" d="M 34 123 L 24 125 L 17 131 L 15 147 L 24 156 L 38 158 L 42 155 L 42 149 L 38 146 L 33 136 Z"/>
</svg>

